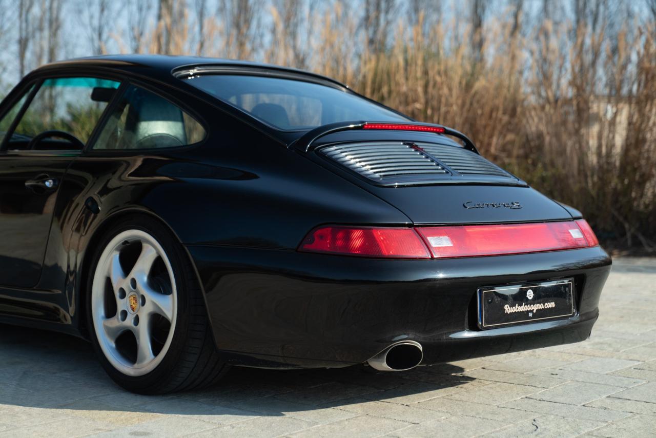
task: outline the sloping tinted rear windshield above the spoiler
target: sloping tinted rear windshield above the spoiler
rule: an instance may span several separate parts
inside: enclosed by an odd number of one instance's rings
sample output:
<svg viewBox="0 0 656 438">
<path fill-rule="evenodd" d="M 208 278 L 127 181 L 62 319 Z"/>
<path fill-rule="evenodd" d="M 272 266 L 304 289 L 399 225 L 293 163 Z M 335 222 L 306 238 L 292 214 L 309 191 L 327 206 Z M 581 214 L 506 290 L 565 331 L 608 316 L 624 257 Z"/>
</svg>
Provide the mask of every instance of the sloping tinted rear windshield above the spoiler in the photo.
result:
<svg viewBox="0 0 656 438">
<path fill-rule="evenodd" d="M 318 83 L 264 76 L 210 75 L 185 79 L 253 117 L 286 131 L 337 121 L 407 121 L 357 95 Z"/>
</svg>

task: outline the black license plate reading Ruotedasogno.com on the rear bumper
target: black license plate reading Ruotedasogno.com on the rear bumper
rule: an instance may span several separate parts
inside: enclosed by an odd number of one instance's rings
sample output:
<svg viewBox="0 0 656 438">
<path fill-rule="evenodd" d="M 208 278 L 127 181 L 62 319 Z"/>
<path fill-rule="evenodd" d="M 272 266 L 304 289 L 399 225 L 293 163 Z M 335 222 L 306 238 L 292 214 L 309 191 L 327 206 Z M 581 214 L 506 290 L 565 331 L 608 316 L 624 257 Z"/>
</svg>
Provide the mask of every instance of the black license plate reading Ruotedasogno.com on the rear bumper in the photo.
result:
<svg viewBox="0 0 656 438">
<path fill-rule="evenodd" d="M 574 315 L 573 280 L 478 290 L 478 325 L 495 328 L 510 324 L 566 318 Z"/>
</svg>

